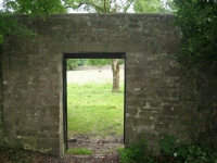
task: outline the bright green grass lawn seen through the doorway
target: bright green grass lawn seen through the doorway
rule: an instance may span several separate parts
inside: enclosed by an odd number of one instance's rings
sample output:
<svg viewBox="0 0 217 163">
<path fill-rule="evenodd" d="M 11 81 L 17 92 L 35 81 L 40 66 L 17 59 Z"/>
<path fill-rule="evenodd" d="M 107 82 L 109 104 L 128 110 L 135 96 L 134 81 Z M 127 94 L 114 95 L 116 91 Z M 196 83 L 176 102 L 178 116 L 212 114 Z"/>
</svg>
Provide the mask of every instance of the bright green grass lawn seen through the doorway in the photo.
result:
<svg viewBox="0 0 217 163">
<path fill-rule="evenodd" d="M 124 85 L 120 92 L 111 88 L 111 84 L 67 85 L 68 137 L 123 135 Z"/>
</svg>

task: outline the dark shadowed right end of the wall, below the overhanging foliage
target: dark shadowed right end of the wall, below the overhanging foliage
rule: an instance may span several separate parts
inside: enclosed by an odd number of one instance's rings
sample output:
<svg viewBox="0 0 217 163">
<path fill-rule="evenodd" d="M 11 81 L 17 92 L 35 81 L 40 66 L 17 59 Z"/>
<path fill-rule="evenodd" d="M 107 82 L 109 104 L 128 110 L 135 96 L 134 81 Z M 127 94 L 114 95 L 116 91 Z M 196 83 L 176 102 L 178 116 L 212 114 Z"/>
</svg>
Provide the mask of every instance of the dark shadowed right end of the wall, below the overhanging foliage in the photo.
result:
<svg viewBox="0 0 217 163">
<path fill-rule="evenodd" d="M 187 142 L 213 146 L 217 142 L 217 77 L 196 70 L 183 71 L 178 136 Z"/>
</svg>

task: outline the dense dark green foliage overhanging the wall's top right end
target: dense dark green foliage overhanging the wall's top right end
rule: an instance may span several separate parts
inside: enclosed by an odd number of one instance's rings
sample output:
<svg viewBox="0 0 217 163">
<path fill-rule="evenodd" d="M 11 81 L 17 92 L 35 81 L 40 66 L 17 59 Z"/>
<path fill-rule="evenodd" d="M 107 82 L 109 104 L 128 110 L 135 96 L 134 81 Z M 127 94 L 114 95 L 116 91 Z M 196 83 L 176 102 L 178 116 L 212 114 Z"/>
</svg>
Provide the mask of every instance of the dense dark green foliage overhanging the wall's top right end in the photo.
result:
<svg viewBox="0 0 217 163">
<path fill-rule="evenodd" d="M 217 75 L 217 1 L 174 0 L 176 24 L 181 26 L 181 50 L 177 61 Z"/>
</svg>

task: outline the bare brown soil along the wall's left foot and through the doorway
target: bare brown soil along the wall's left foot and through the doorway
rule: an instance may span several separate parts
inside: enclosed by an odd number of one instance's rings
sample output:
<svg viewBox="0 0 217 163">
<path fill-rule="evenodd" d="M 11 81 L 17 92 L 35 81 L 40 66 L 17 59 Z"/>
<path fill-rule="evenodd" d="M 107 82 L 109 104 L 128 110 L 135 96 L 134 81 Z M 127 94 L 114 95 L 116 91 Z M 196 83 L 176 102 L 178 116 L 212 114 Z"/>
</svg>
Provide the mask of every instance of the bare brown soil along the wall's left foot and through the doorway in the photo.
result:
<svg viewBox="0 0 217 163">
<path fill-rule="evenodd" d="M 114 135 L 95 137 L 76 135 L 68 140 L 68 149 L 86 148 L 91 155 L 65 154 L 63 158 L 26 150 L 0 149 L 0 163 L 119 163 L 117 148 L 124 146 L 123 137 Z"/>
</svg>

